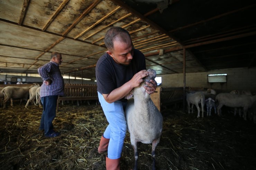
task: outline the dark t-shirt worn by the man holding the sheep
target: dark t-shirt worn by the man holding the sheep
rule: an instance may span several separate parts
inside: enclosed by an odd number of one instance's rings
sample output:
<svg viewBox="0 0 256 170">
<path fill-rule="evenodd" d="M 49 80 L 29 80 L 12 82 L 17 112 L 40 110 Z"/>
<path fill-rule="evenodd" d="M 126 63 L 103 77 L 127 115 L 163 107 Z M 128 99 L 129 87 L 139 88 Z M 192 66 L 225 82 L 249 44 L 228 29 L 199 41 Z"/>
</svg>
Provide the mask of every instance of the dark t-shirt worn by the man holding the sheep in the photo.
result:
<svg viewBox="0 0 256 170">
<path fill-rule="evenodd" d="M 139 50 L 134 49 L 131 64 L 123 66 L 117 64 L 109 54 L 105 53 L 98 60 L 95 70 L 97 91 L 101 94 L 109 94 L 131 80 L 137 72 L 146 70 L 145 56 Z M 126 99 L 121 99 L 121 101 L 126 101 Z"/>
</svg>

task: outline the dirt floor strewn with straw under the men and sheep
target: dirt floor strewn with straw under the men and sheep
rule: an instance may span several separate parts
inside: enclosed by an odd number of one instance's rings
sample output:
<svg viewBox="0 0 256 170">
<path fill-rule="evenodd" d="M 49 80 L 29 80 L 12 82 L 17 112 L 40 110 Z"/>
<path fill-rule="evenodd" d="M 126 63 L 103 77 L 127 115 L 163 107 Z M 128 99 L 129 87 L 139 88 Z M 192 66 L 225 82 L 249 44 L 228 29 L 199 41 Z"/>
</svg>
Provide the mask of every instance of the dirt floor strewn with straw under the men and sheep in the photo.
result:
<svg viewBox="0 0 256 170">
<path fill-rule="evenodd" d="M 0 109 L 0 169 L 104 170 L 106 153 L 99 154 L 100 137 L 107 126 L 100 105 L 61 106 L 54 128 L 56 138 L 38 132 L 42 108 L 14 103 Z M 157 170 L 256 169 L 256 125 L 234 117 L 196 118 L 179 109 L 165 109 L 163 134 L 156 149 Z M 130 170 L 134 152 L 129 133 L 121 169 Z M 138 144 L 140 170 L 152 169 L 151 145 Z"/>
</svg>

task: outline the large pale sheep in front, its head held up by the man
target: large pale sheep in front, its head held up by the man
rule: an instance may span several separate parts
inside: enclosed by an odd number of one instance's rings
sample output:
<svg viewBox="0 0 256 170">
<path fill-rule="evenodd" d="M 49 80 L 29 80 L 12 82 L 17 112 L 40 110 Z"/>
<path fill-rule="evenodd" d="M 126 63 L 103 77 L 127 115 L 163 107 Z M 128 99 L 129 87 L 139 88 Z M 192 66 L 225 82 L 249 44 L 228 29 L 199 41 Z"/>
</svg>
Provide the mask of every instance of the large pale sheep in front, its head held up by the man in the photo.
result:
<svg viewBox="0 0 256 170">
<path fill-rule="evenodd" d="M 150 79 L 155 79 L 156 71 L 153 69 L 147 71 L 149 72 L 149 75 L 144 81 L 149 82 Z M 145 88 L 143 87 L 144 85 L 144 83 L 141 83 L 139 87 L 134 88 L 134 98 L 128 100 L 125 114 L 127 128 L 130 132 L 131 144 L 134 148 L 134 170 L 137 170 L 138 163 L 137 142 L 152 143 L 152 169 L 155 170 L 155 149 L 162 134 L 163 117 L 150 99 L 150 95 L 146 93 Z M 127 99 L 129 99 L 131 95 L 128 96 Z"/>
</svg>

